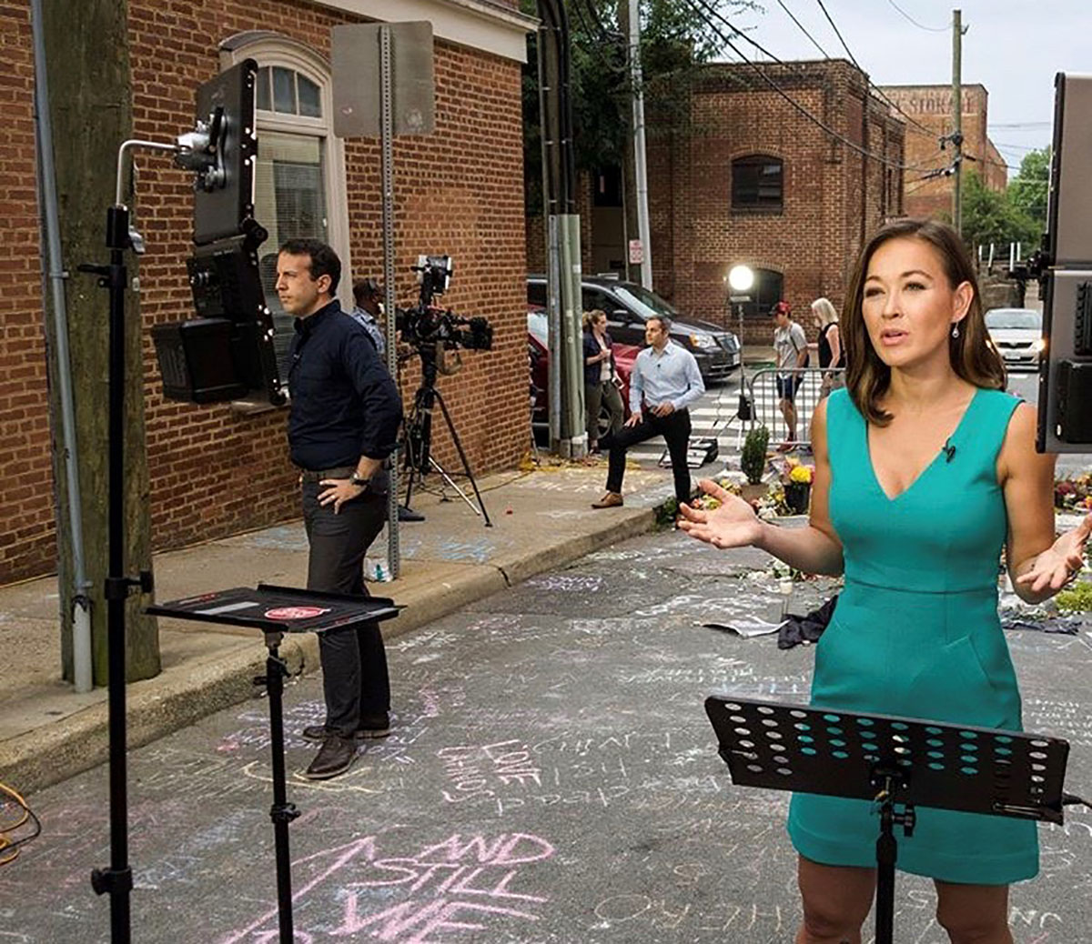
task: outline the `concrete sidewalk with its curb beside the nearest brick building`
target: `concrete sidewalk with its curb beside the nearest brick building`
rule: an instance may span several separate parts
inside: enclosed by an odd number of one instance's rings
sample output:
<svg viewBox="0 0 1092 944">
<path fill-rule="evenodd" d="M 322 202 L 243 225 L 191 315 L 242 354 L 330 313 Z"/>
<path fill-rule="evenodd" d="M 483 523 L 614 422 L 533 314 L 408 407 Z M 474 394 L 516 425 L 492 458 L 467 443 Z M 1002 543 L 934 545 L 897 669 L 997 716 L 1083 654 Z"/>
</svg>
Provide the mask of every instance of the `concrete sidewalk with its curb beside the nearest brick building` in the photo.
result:
<svg viewBox="0 0 1092 944">
<path fill-rule="evenodd" d="M 479 480 L 492 527 L 454 497 L 422 494 L 423 523 L 400 528 L 402 572 L 371 584 L 405 610 L 384 622 L 395 636 L 563 565 L 596 548 L 654 527 L 655 506 L 673 494 L 669 469 L 629 468 L 626 505 L 593 511 L 603 493 L 606 462 L 544 465 Z M 437 485 L 430 482 L 430 485 Z M 385 562 L 385 533 L 372 545 Z M 156 599 L 260 582 L 304 586 L 307 538 L 301 521 L 154 558 Z M 78 695 L 60 676 L 57 578 L 0 587 L 0 781 L 33 792 L 106 760 L 107 691 Z M 163 671 L 128 688 L 128 743 L 136 746 L 253 695 L 264 672 L 260 633 L 235 626 L 159 619 Z M 312 633 L 285 637 L 281 654 L 290 671 L 318 668 Z M 396 693 L 395 693 L 396 698 Z"/>
</svg>

